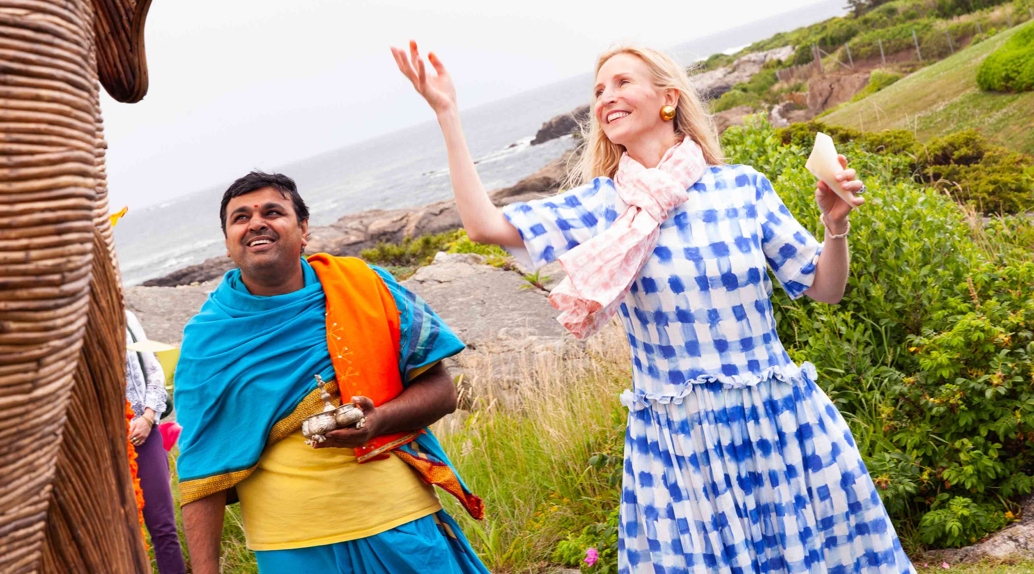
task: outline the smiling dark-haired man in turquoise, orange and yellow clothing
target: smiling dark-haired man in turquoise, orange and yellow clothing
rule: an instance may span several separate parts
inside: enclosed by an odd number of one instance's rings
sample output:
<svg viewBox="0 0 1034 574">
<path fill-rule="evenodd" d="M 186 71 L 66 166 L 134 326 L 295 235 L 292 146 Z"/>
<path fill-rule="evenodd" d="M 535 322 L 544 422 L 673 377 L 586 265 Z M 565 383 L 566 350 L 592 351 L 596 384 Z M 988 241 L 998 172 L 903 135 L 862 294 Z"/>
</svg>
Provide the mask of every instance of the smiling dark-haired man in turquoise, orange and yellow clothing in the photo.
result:
<svg viewBox="0 0 1034 574">
<path fill-rule="evenodd" d="M 187 323 L 176 373 L 181 503 L 194 574 L 219 571 L 240 501 L 262 574 L 486 573 L 432 484 L 475 518 L 480 499 L 427 425 L 456 408 L 439 361 L 463 349 L 442 319 L 360 259 L 301 255 L 295 182 L 252 171 L 219 206 L 226 273 Z M 306 444 L 301 422 L 351 397 L 359 428 Z"/>
</svg>

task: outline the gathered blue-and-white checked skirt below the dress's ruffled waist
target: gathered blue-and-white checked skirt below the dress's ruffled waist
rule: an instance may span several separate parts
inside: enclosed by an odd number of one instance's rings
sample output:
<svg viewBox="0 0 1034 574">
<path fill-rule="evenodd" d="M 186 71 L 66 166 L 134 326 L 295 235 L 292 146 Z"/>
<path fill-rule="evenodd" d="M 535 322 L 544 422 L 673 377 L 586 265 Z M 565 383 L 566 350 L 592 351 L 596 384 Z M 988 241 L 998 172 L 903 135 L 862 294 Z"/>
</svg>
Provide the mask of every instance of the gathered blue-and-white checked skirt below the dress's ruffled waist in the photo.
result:
<svg viewBox="0 0 1034 574">
<path fill-rule="evenodd" d="M 629 407 L 618 572 L 914 573 L 815 368 Z"/>
</svg>

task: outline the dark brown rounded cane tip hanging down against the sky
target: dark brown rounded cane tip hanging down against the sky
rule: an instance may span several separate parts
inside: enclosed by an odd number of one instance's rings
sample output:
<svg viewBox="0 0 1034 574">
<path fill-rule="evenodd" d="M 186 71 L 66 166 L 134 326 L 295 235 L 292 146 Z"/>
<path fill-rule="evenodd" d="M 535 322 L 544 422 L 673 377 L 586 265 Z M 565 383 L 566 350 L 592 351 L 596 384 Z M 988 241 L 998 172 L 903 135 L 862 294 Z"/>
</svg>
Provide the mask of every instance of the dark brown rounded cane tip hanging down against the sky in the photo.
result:
<svg viewBox="0 0 1034 574">
<path fill-rule="evenodd" d="M 144 21 L 151 0 L 91 1 L 96 13 L 100 84 L 118 101 L 140 101 L 147 94 Z"/>
</svg>

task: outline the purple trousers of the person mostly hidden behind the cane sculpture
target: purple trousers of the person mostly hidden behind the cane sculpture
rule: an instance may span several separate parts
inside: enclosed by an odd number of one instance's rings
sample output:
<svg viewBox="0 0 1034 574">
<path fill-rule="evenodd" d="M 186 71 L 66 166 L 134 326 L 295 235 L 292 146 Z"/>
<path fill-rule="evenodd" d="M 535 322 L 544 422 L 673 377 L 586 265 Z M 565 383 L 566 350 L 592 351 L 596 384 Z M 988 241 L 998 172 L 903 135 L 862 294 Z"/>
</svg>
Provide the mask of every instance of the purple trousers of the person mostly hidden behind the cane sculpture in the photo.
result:
<svg viewBox="0 0 1034 574">
<path fill-rule="evenodd" d="M 176 533 L 176 511 L 169 487 L 169 453 L 161 445 L 157 425 L 144 444 L 136 447 L 140 487 L 144 490 L 144 523 L 151 534 L 154 559 L 161 574 L 186 574 L 180 537 Z"/>
</svg>

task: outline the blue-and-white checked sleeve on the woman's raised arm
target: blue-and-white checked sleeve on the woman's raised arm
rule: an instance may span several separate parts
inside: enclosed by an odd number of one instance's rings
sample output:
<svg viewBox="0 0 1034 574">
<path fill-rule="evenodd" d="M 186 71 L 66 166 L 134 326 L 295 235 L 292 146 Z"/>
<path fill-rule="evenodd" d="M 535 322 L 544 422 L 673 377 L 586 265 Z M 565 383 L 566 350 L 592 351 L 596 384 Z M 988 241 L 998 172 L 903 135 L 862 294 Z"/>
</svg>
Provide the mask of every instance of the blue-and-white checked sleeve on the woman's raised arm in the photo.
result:
<svg viewBox="0 0 1034 574">
<path fill-rule="evenodd" d="M 524 246 L 507 251 L 530 269 L 551 263 L 609 227 L 617 219 L 619 201 L 613 182 L 597 178 L 557 195 L 511 203 L 503 215 Z"/>
</svg>

